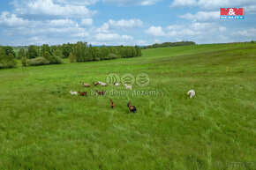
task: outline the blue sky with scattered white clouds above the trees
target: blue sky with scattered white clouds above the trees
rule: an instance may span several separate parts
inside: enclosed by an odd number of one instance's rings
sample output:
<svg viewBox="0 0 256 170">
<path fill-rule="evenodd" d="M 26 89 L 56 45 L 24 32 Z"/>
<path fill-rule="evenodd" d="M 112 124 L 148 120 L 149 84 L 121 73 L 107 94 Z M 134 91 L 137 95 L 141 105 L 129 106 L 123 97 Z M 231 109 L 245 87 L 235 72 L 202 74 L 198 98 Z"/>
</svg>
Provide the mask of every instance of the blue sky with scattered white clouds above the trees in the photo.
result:
<svg viewBox="0 0 256 170">
<path fill-rule="evenodd" d="M 220 8 L 245 8 L 220 20 Z M 148 45 L 256 40 L 255 0 L 4 0 L 1 45 Z"/>
</svg>

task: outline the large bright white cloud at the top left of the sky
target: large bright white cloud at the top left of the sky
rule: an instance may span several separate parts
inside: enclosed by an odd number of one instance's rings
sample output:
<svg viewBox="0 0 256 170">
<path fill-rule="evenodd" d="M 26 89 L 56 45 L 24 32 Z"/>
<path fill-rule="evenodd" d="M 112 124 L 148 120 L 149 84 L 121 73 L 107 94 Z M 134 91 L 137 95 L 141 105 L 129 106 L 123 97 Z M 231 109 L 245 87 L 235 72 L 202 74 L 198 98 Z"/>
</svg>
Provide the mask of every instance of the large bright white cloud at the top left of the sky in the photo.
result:
<svg viewBox="0 0 256 170">
<path fill-rule="evenodd" d="M 43 15 L 61 18 L 81 18 L 93 16 L 95 11 L 90 11 L 84 5 L 55 4 L 53 0 L 36 0 L 23 4 L 14 4 L 15 11 L 21 15 Z"/>
</svg>

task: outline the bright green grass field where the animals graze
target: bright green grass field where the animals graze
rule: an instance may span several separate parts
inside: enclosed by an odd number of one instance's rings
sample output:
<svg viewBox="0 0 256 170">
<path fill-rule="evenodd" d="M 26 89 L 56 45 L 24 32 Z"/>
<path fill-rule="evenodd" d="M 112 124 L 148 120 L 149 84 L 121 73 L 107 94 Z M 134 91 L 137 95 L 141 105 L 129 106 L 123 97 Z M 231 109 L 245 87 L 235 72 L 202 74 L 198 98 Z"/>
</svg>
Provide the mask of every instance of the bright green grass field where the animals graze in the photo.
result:
<svg viewBox="0 0 256 170">
<path fill-rule="evenodd" d="M 0 70 L 0 169 L 255 169 L 256 44 L 154 48 L 137 58 Z M 161 96 L 85 89 L 147 73 Z M 124 90 L 127 96 L 69 91 Z M 186 92 L 194 89 L 189 99 Z M 110 109 L 109 99 L 116 108 Z M 131 114 L 127 102 L 137 107 Z"/>
</svg>

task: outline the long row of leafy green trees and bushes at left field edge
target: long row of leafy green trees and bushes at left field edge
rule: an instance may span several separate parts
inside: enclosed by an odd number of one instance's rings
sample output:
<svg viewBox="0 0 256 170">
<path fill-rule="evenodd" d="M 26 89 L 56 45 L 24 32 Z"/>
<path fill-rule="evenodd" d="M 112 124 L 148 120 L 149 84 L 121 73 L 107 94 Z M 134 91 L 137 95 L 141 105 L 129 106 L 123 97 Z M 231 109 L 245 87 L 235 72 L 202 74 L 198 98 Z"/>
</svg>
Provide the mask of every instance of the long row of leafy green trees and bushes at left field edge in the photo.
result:
<svg viewBox="0 0 256 170">
<path fill-rule="evenodd" d="M 71 63 L 81 63 L 140 55 L 141 49 L 138 46 L 93 47 L 82 41 L 54 46 L 30 45 L 28 48 L 19 48 L 18 55 L 10 46 L 4 46 L 0 47 L 0 69 L 16 67 L 16 59 L 20 59 L 22 66 L 37 66 L 59 64 L 62 63 L 61 58 L 69 58 Z"/>
</svg>

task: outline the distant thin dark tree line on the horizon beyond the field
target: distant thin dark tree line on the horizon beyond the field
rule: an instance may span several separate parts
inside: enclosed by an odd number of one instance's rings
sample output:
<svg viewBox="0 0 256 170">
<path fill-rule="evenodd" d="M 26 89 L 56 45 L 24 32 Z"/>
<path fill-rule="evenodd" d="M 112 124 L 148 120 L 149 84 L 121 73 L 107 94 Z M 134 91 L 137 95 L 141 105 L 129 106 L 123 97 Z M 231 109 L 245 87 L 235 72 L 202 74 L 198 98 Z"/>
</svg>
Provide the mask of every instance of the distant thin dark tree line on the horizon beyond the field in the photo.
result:
<svg viewBox="0 0 256 170">
<path fill-rule="evenodd" d="M 141 49 L 147 49 L 147 48 L 168 48 L 168 47 L 192 46 L 192 45 L 196 45 L 196 43 L 194 41 L 163 42 L 162 44 L 155 43 L 153 45 L 141 47 Z"/>
</svg>

